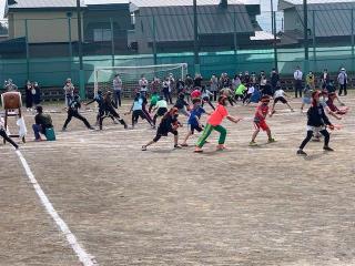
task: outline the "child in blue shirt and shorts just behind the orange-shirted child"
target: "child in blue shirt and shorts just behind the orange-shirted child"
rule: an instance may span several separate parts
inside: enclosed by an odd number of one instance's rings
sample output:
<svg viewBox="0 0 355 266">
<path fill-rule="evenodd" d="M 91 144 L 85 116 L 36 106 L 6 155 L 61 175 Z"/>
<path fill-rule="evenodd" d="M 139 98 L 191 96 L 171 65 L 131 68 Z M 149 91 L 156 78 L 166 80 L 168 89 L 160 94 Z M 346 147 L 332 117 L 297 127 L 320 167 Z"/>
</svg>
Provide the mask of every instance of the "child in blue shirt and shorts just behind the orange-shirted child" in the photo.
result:
<svg viewBox="0 0 355 266">
<path fill-rule="evenodd" d="M 201 106 L 201 99 L 194 99 L 194 100 L 192 100 L 192 103 L 193 103 L 193 109 L 191 111 L 191 114 L 190 114 L 190 117 L 187 121 L 189 132 L 187 132 L 183 143 L 181 144 L 181 146 L 189 146 L 186 142 L 187 142 L 189 137 L 194 134 L 195 131 L 197 131 L 197 132 L 203 131 L 203 125 L 200 122 L 201 115 L 204 113 L 211 115 L 211 113 L 207 113 Z"/>
</svg>

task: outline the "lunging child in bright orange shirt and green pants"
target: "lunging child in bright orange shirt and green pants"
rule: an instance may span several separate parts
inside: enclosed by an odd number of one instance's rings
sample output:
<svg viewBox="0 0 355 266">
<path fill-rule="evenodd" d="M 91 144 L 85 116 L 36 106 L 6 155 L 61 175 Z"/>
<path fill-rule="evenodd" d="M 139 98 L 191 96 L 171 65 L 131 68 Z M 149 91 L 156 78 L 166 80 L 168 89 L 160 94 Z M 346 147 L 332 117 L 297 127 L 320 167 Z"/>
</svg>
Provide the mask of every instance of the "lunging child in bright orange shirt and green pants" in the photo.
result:
<svg viewBox="0 0 355 266">
<path fill-rule="evenodd" d="M 206 143 L 207 137 L 212 133 L 213 130 L 220 132 L 220 140 L 219 140 L 219 145 L 217 145 L 217 151 L 224 150 L 224 142 L 226 137 L 226 130 L 221 125 L 223 119 L 227 119 L 234 123 L 237 123 L 241 121 L 240 117 L 233 117 L 229 115 L 229 111 L 226 110 L 226 101 L 227 98 L 225 95 L 222 95 L 219 98 L 219 104 L 216 106 L 216 110 L 210 115 L 207 119 L 207 124 L 203 130 L 202 135 L 200 136 L 196 147 L 195 147 L 195 153 L 201 153 L 203 152 L 202 147 Z"/>
</svg>

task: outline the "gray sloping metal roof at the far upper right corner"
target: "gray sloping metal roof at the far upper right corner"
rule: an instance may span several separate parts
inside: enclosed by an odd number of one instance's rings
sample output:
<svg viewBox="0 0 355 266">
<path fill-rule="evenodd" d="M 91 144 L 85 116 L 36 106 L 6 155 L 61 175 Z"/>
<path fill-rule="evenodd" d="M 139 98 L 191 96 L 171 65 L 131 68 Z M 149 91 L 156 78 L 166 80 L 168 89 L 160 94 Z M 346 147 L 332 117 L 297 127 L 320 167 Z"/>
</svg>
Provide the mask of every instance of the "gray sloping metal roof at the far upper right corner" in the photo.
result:
<svg viewBox="0 0 355 266">
<path fill-rule="evenodd" d="M 352 34 L 352 9 L 355 10 L 354 1 L 331 1 L 322 0 L 322 3 L 315 3 L 318 0 L 308 0 L 308 29 L 313 29 L 313 16 L 315 21 L 315 35 L 322 37 L 346 37 Z M 314 3 L 312 3 L 314 1 Z M 324 2 L 325 1 L 325 2 Z M 297 4 L 295 4 L 297 2 Z M 293 4 L 301 20 L 303 20 L 303 6 L 298 4 L 301 0 L 283 1 L 283 3 Z M 354 11 L 355 18 L 355 11 Z M 312 33 L 313 34 L 313 33 Z"/>
</svg>

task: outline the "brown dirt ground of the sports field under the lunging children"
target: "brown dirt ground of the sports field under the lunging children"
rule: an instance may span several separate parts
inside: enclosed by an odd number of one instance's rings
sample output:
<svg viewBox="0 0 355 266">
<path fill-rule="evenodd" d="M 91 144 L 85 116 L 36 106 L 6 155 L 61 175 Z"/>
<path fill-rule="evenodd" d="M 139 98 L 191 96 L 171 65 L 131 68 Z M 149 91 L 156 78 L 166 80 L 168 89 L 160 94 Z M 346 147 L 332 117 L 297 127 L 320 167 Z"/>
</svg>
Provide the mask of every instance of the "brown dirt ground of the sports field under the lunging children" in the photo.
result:
<svg viewBox="0 0 355 266">
<path fill-rule="evenodd" d="M 354 109 L 354 93 L 342 100 Z M 61 111 L 58 141 L 30 132 L 20 151 L 99 265 L 355 265 L 354 114 L 331 119 L 344 125 L 331 135 L 334 153 L 312 142 L 300 157 L 306 116 L 291 102 L 296 112 L 280 103 L 267 120 L 276 143 L 261 132 L 248 146 L 254 108 L 239 104 L 229 110 L 245 120 L 224 123 L 229 150 L 215 152 L 213 133 L 203 154 L 193 153 L 197 135 L 191 147 L 173 150 L 170 135 L 142 152 L 155 133 L 144 121 L 124 130 L 106 120 L 102 132 L 72 121 L 60 132 L 64 111 L 45 106 Z M 26 121 L 30 130 L 33 115 Z M 0 144 L 0 265 L 80 265 L 13 149 Z"/>
</svg>

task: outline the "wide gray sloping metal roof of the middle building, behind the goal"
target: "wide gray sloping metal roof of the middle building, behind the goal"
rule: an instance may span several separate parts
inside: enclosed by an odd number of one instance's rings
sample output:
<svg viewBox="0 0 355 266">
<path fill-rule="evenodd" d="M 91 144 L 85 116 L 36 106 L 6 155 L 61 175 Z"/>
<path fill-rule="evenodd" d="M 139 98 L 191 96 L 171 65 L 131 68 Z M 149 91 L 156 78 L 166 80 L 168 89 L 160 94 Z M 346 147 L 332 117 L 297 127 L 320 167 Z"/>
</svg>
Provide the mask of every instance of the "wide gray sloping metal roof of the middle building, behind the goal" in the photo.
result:
<svg viewBox="0 0 355 266">
<path fill-rule="evenodd" d="M 233 33 L 234 12 L 236 33 L 253 34 L 254 29 L 244 4 L 229 4 L 227 9 L 221 9 L 219 6 L 199 6 L 199 34 Z M 158 42 L 193 40 L 193 7 L 140 8 L 136 25 L 143 25 L 144 37 L 150 42 L 153 41 L 153 17 Z"/>
</svg>

